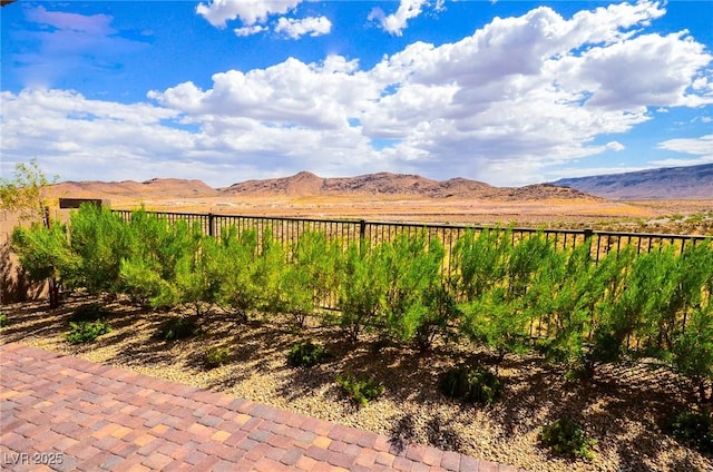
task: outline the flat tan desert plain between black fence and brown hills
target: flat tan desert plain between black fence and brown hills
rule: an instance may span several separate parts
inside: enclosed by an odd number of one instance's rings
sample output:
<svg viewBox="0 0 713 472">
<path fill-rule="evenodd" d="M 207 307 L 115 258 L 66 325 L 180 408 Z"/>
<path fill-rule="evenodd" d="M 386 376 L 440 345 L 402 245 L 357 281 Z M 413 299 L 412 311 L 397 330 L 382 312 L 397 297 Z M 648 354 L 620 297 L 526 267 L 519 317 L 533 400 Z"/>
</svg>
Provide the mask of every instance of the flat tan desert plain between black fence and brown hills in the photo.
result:
<svg viewBox="0 0 713 472">
<path fill-rule="evenodd" d="M 710 200 L 624 201 L 600 198 L 492 200 L 451 198 L 387 198 L 367 196 L 111 198 L 111 207 L 144 205 L 160 212 L 214 213 L 325 219 L 367 219 L 550 228 L 594 228 L 626 232 L 713 235 Z"/>
</svg>

